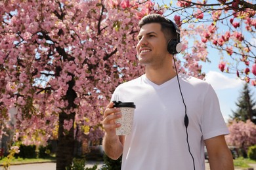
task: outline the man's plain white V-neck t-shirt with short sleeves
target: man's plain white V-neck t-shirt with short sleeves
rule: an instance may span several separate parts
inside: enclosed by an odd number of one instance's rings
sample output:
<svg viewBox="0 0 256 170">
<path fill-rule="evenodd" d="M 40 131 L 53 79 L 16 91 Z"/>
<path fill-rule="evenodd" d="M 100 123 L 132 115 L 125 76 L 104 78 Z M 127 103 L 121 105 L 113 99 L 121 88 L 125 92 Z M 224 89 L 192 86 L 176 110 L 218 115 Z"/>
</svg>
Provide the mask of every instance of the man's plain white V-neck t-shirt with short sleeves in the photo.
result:
<svg viewBox="0 0 256 170">
<path fill-rule="evenodd" d="M 196 170 L 205 169 L 203 140 L 228 134 L 228 129 L 211 85 L 183 74 L 179 80 L 189 118 L 190 151 Z M 122 170 L 194 169 L 177 76 L 157 85 L 142 75 L 118 86 L 112 100 L 136 105 L 133 132 L 125 137 Z"/>
</svg>

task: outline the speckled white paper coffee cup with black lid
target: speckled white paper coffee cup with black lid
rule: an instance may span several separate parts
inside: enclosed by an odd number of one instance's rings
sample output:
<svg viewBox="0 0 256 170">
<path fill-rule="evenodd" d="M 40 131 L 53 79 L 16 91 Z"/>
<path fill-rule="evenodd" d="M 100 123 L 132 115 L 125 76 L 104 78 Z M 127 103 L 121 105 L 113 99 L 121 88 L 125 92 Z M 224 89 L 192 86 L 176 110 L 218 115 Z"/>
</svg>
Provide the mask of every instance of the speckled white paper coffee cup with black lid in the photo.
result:
<svg viewBox="0 0 256 170">
<path fill-rule="evenodd" d="M 121 118 L 116 120 L 116 123 L 121 124 L 116 128 L 116 135 L 129 135 L 133 130 L 133 116 L 135 104 L 133 102 L 113 101 L 114 107 L 119 107 L 121 110 Z"/>
</svg>

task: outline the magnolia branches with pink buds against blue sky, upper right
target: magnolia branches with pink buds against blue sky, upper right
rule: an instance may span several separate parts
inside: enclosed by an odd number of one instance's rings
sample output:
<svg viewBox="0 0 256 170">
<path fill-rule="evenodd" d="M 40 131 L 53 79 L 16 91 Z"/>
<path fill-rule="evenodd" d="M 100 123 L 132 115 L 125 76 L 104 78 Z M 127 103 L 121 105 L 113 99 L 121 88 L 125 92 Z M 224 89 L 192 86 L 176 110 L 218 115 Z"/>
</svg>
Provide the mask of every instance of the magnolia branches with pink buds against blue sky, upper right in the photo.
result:
<svg viewBox="0 0 256 170">
<path fill-rule="evenodd" d="M 184 65 L 192 65 L 190 61 L 195 58 L 211 61 L 208 49 L 216 48 L 219 54 L 215 58 L 219 58 L 222 72 L 234 73 L 256 86 L 256 5 L 253 1 L 178 0 L 164 7 L 165 16 L 173 17 L 171 19 L 181 26 Z"/>
</svg>

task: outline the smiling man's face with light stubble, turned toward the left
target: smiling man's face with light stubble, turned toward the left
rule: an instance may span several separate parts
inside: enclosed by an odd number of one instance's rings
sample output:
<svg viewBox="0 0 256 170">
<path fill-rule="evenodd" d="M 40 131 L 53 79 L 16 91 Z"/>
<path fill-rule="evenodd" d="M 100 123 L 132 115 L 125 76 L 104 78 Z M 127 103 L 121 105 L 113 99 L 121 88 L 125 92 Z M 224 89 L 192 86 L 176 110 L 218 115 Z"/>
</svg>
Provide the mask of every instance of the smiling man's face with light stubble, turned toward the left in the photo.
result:
<svg viewBox="0 0 256 170">
<path fill-rule="evenodd" d="M 137 36 L 137 54 L 139 61 L 145 65 L 161 64 L 169 56 L 167 52 L 167 41 L 161 25 L 158 23 L 145 24 L 141 27 Z"/>
</svg>

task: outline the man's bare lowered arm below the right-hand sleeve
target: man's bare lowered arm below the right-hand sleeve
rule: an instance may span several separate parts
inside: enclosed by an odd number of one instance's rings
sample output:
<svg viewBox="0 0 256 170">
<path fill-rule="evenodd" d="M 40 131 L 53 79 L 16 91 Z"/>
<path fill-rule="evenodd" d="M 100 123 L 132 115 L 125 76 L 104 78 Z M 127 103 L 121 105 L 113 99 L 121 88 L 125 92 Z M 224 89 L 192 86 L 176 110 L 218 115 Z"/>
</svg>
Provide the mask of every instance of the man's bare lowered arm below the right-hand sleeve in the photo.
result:
<svg viewBox="0 0 256 170">
<path fill-rule="evenodd" d="M 211 170 L 234 170 L 232 154 L 224 135 L 205 140 Z"/>
</svg>

